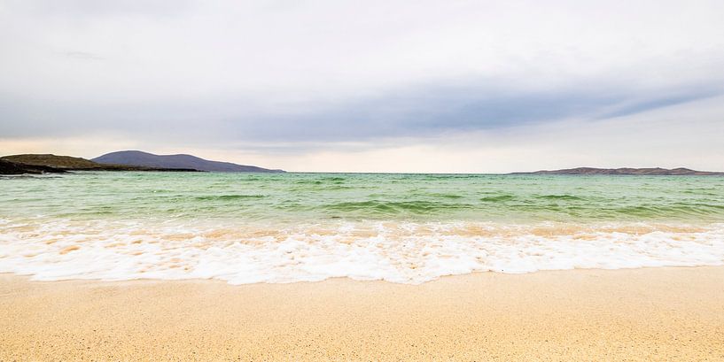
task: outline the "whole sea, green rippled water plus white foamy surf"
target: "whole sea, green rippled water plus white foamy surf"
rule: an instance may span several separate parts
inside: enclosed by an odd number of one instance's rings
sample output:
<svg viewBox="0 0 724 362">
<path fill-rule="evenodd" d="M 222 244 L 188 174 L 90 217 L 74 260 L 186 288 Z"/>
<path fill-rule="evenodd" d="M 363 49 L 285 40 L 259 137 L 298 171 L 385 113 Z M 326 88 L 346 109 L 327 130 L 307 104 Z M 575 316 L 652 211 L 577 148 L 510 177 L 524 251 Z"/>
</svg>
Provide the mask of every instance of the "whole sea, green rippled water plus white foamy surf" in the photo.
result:
<svg viewBox="0 0 724 362">
<path fill-rule="evenodd" d="M 0 178 L 0 273 L 35 280 L 724 265 L 724 177 L 75 173 Z"/>
</svg>

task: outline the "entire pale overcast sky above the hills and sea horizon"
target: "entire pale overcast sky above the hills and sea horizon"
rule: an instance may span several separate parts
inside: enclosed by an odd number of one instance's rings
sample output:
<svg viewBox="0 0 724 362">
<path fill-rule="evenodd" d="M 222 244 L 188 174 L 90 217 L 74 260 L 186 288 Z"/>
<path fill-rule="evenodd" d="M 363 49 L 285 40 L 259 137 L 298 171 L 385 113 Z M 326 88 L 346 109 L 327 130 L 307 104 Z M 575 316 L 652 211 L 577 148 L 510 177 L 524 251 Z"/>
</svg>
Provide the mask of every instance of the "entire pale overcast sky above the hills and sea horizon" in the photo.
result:
<svg viewBox="0 0 724 362">
<path fill-rule="evenodd" d="M 724 171 L 724 2 L 0 0 L 0 154 Z"/>
</svg>

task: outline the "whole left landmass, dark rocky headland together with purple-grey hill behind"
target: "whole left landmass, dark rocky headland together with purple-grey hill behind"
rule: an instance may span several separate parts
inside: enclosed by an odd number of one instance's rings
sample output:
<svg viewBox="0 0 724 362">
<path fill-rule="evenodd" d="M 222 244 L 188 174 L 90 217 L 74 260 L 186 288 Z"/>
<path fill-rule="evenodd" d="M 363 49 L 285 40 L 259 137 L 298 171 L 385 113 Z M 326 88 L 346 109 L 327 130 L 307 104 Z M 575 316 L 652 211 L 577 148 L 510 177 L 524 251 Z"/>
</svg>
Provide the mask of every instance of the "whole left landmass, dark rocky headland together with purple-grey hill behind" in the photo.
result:
<svg viewBox="0 0 724 362">
<path fill-rule="evenodd" d="M 209 161 L 191 155 L 160 156 L 137 150 L 108 153 L 92 160 L 52 154 L 23 154 L 0 158 L 0 174 L 67 173 L 70 171 L 284 172 L 257 166 Z"/>
</svg>

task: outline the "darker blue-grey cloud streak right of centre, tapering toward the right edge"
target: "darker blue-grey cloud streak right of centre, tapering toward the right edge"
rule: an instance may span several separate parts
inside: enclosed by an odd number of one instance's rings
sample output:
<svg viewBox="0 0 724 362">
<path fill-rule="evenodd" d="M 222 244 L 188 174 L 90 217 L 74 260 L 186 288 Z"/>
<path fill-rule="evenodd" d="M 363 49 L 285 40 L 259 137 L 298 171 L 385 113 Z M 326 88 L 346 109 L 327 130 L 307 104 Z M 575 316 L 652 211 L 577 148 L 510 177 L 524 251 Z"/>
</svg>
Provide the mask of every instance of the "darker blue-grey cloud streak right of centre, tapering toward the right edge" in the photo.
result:
<svg viewBox="0 0 724 362">
<path fill-rule="evenodd" d="M 717 94 L 720 91 L 692 90 L 670 96 L 666 90 L 641 95 L 585 87 L 521 93 L 490 88 L 433 87 L 339 104 L 323 112 L 262 116 L 251 122 L 239 119 L 231 132 L 236 131 L 235 136 L 239 138 L 251 136 L 286 142 L 345 142 L 479 130 L 496 132 L 560 119 L 594 121 Z M 639 101 L 632 103 L 630 99 Z"/>
</svg>

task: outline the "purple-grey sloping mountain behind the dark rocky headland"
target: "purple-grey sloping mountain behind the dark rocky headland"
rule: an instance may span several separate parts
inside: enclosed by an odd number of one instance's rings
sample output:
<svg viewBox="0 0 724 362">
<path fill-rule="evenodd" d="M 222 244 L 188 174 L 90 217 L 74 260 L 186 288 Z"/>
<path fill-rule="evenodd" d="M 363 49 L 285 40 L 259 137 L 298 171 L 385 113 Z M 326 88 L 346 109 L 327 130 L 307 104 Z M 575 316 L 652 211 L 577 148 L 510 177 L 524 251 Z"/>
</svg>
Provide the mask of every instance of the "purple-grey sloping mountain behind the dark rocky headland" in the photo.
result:
<svg viewBox="0 0 724 362">
<path fill-rule="evenodd" d="M 199 171 L 226 172 L 226 173 L 283 173 L 282 170 L 269 170 L 257 166 L 245 166 L 230 162 L 209 161 L 191 155 L 154 155 L 140 150 L 121 150 L 107 153 L 92 161 L 103 164 L 164 167 L 164 168 L 192 168 Z"/>
</svg>

